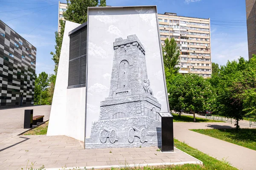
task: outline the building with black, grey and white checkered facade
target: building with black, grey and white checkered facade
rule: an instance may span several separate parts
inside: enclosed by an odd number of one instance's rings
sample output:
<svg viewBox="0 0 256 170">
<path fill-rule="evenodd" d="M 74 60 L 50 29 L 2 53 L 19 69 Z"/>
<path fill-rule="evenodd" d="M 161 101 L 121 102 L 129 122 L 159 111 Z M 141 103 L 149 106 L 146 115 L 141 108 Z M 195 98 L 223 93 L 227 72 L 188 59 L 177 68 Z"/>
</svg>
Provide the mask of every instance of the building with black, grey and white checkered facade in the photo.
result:
<svg viewBox="0 0 256 170">
<path fill-rule="evenodd" d="M 0 108 L 34 104 L 36 48 L 0 20 Z"/>
</svg>

